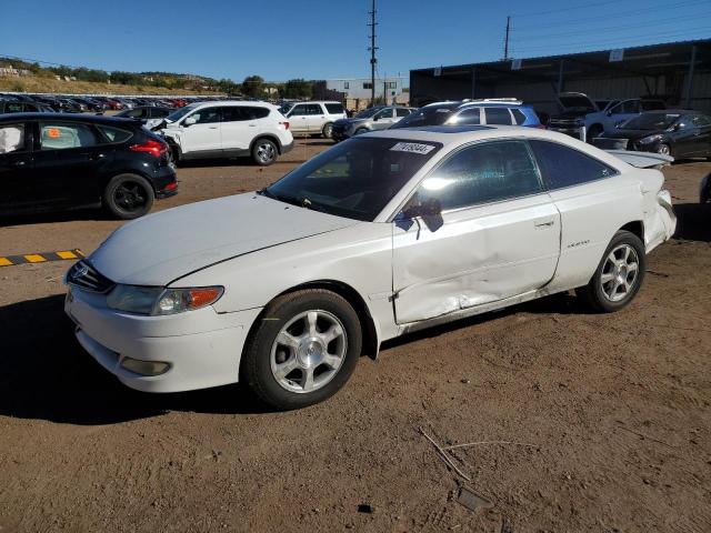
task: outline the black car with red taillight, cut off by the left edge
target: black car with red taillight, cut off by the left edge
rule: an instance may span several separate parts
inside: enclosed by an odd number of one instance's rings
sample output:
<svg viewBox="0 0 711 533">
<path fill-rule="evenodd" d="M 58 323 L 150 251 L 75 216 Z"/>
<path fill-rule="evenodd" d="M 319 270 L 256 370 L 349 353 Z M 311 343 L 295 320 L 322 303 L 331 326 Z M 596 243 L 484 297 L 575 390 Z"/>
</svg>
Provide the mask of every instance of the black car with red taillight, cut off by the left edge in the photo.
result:
<svg viewBox="0 0 711 533">
<path fill-rule="evenodd" d="M 168 144 L 130 119 L 0 115 L 0 217 L 103 207 L 136 219 L 178 192 Z"/>
</svg>

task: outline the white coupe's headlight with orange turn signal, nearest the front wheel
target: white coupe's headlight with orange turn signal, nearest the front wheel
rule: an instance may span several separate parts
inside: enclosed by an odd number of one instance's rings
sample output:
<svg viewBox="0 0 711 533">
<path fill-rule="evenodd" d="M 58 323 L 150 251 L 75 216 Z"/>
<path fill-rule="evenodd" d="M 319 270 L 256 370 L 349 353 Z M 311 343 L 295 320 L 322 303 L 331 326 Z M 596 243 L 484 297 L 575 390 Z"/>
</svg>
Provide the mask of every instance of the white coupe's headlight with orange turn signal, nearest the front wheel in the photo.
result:
<svg viewBox="0 0 711 533">
<path fill-rule="evenodd" d="M 117 311 L 160 316 L 194 311 L 217 302 L 222 286 L 163 289 L 161 286 L 117 285 L 107 296 L 107 305 Z"/>
</svg>

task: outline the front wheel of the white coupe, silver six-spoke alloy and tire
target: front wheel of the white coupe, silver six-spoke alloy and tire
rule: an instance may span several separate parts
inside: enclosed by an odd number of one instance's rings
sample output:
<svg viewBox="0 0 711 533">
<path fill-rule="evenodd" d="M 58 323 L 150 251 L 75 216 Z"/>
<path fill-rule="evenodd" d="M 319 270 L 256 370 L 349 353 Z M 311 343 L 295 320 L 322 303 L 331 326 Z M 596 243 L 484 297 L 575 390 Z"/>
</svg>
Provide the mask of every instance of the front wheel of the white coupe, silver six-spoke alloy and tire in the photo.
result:
<svg viewBox="0 0 711 533">
<path fill-rule="evenodd" d="M 264 310 L 242 355 L 241 380 L 274 409 L 306 408 L 346 384 L 361 346 L 361 324 L 346 299 L 322 289 L 292 292 Z"/>
</svg>

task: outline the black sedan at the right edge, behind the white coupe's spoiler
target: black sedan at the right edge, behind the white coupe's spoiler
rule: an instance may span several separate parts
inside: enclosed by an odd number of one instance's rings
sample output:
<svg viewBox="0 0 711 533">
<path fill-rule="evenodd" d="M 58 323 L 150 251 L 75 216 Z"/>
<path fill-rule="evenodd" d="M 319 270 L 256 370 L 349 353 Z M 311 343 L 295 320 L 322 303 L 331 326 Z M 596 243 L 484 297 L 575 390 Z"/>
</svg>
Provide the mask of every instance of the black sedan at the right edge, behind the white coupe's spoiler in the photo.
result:
<svg viewBox="0 0 711 533">
<path fill-rule="evenodd" d="M 711 158 L 711 117 L 698 111 L 648 111 L 592 140 L 602 149 Z"/>
</svg>

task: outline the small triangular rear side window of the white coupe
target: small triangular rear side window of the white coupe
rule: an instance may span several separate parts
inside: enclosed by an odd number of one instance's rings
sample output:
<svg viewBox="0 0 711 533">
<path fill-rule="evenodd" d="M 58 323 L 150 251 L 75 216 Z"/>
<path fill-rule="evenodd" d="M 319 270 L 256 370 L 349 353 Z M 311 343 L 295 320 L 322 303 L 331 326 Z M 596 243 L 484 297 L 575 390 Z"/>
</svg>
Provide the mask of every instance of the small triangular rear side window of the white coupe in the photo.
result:
<svg viewBox="0 0 711 533">
<path fill-rule="evenodd" d="M 580 185 L 618 173 L 613 168 L 575 149 L 548 141 L 529 142 L 549 189 Z"/>
</svg>

